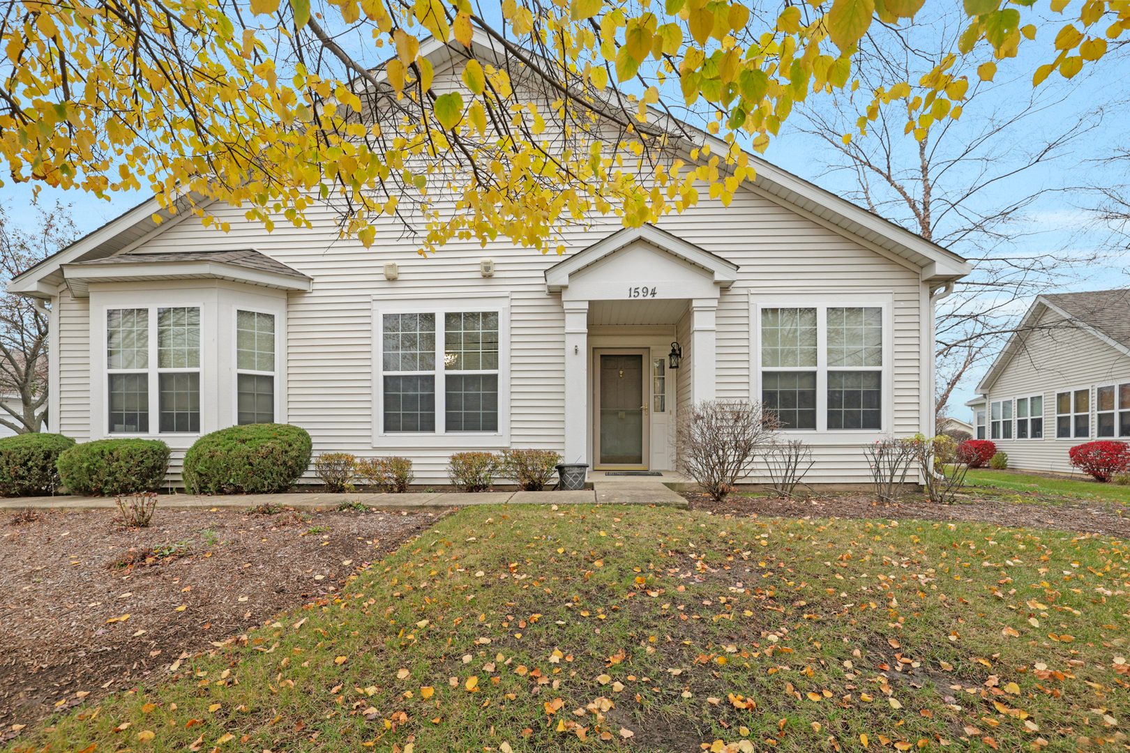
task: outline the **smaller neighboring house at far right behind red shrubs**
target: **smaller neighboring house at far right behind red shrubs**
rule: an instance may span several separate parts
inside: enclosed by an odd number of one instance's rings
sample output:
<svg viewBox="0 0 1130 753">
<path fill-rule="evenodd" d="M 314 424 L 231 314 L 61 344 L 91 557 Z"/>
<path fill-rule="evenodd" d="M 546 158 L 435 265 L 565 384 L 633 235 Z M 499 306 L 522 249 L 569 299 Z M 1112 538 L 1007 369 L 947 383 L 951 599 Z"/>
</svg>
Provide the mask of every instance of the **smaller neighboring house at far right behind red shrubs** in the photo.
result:
<svg viewBox="0 0 1130 753">
<path fill-rule="evenodd" d="M 1071 447 L 1130 440 L 1130 289 L 1038 296 L 976 391 L 975 436 L 1009 467 L 1078 472 Z"/>
</svg>

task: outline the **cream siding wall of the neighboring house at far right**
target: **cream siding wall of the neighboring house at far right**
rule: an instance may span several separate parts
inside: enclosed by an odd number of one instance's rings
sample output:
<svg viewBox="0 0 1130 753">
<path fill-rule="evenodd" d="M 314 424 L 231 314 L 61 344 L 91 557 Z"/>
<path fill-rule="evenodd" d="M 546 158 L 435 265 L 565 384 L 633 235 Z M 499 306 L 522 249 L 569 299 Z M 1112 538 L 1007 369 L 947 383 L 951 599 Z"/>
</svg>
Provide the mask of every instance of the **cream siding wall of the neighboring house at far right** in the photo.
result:
<svg viewBox="0 0 1130 753">
<path fill-rule="evenodd" d="M 1008 454 L 1010 469 L 1079 473 L 1071 466 L 1068 450 L 1096 439 L 1095 388 L 1130 382 L 1130 356 L 1048 308 L 1034 327 L 986 393 L 985 436 L 990 436 L 989 410 L 993 402 L 1043 395 L 1043 439 L 992 441 Z M 1090 391 L 1090 436 L 1057 439 L 1055 393 L 1081 388 Z"/>
</svg>

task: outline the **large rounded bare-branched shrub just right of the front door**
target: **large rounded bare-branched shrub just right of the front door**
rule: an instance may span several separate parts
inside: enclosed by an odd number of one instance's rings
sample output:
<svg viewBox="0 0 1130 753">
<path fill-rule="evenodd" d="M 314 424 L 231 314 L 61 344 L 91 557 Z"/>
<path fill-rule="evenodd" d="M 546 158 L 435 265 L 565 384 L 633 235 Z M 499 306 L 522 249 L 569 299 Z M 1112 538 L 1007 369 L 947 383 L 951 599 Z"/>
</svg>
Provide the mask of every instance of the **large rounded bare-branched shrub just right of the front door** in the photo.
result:
<svg viewBox="0 0 1130 753">
<path fill-rule="evenodd" d="M 721 501 L 748 476 L 757 455 L 770 444 L 781 422 L 760 403 L 704 400 L 679 413 L 676 427 L 677 464 Z"/>
</svg>

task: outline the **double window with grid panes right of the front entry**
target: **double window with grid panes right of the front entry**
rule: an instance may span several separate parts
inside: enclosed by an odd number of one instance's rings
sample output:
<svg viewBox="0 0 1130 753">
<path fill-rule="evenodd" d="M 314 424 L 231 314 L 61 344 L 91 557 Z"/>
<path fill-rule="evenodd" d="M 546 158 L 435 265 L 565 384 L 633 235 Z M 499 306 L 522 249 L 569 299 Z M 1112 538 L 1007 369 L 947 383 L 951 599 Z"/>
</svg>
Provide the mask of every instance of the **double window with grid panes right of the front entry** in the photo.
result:
<svg viewBox="0 0 1130 753">
<path fill-rule="evenodd" d="M 783 428 L 883 428 L 881 307 L 763 308 L 760 335 L 762 404 Z"/>
</svg>

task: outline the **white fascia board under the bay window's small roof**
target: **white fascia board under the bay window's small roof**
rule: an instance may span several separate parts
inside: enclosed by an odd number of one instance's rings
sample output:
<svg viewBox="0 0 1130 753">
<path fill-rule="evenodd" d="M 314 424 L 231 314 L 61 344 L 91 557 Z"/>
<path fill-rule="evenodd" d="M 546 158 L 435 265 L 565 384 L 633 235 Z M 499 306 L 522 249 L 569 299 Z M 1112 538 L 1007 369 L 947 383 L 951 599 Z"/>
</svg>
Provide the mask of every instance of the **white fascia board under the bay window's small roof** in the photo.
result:
<svg viewBox="0 0 1130 753">
<path fill-rule="evenodd" d="M 64 264 L 63 277 L 76 298 L 89 297 L 92 282 L 129 280 L 216 279 L 279 290 L 310 292 L 310 278 L 299 279 L 223 262 L 145 262 L 138 264 Z"/>
</svg>

